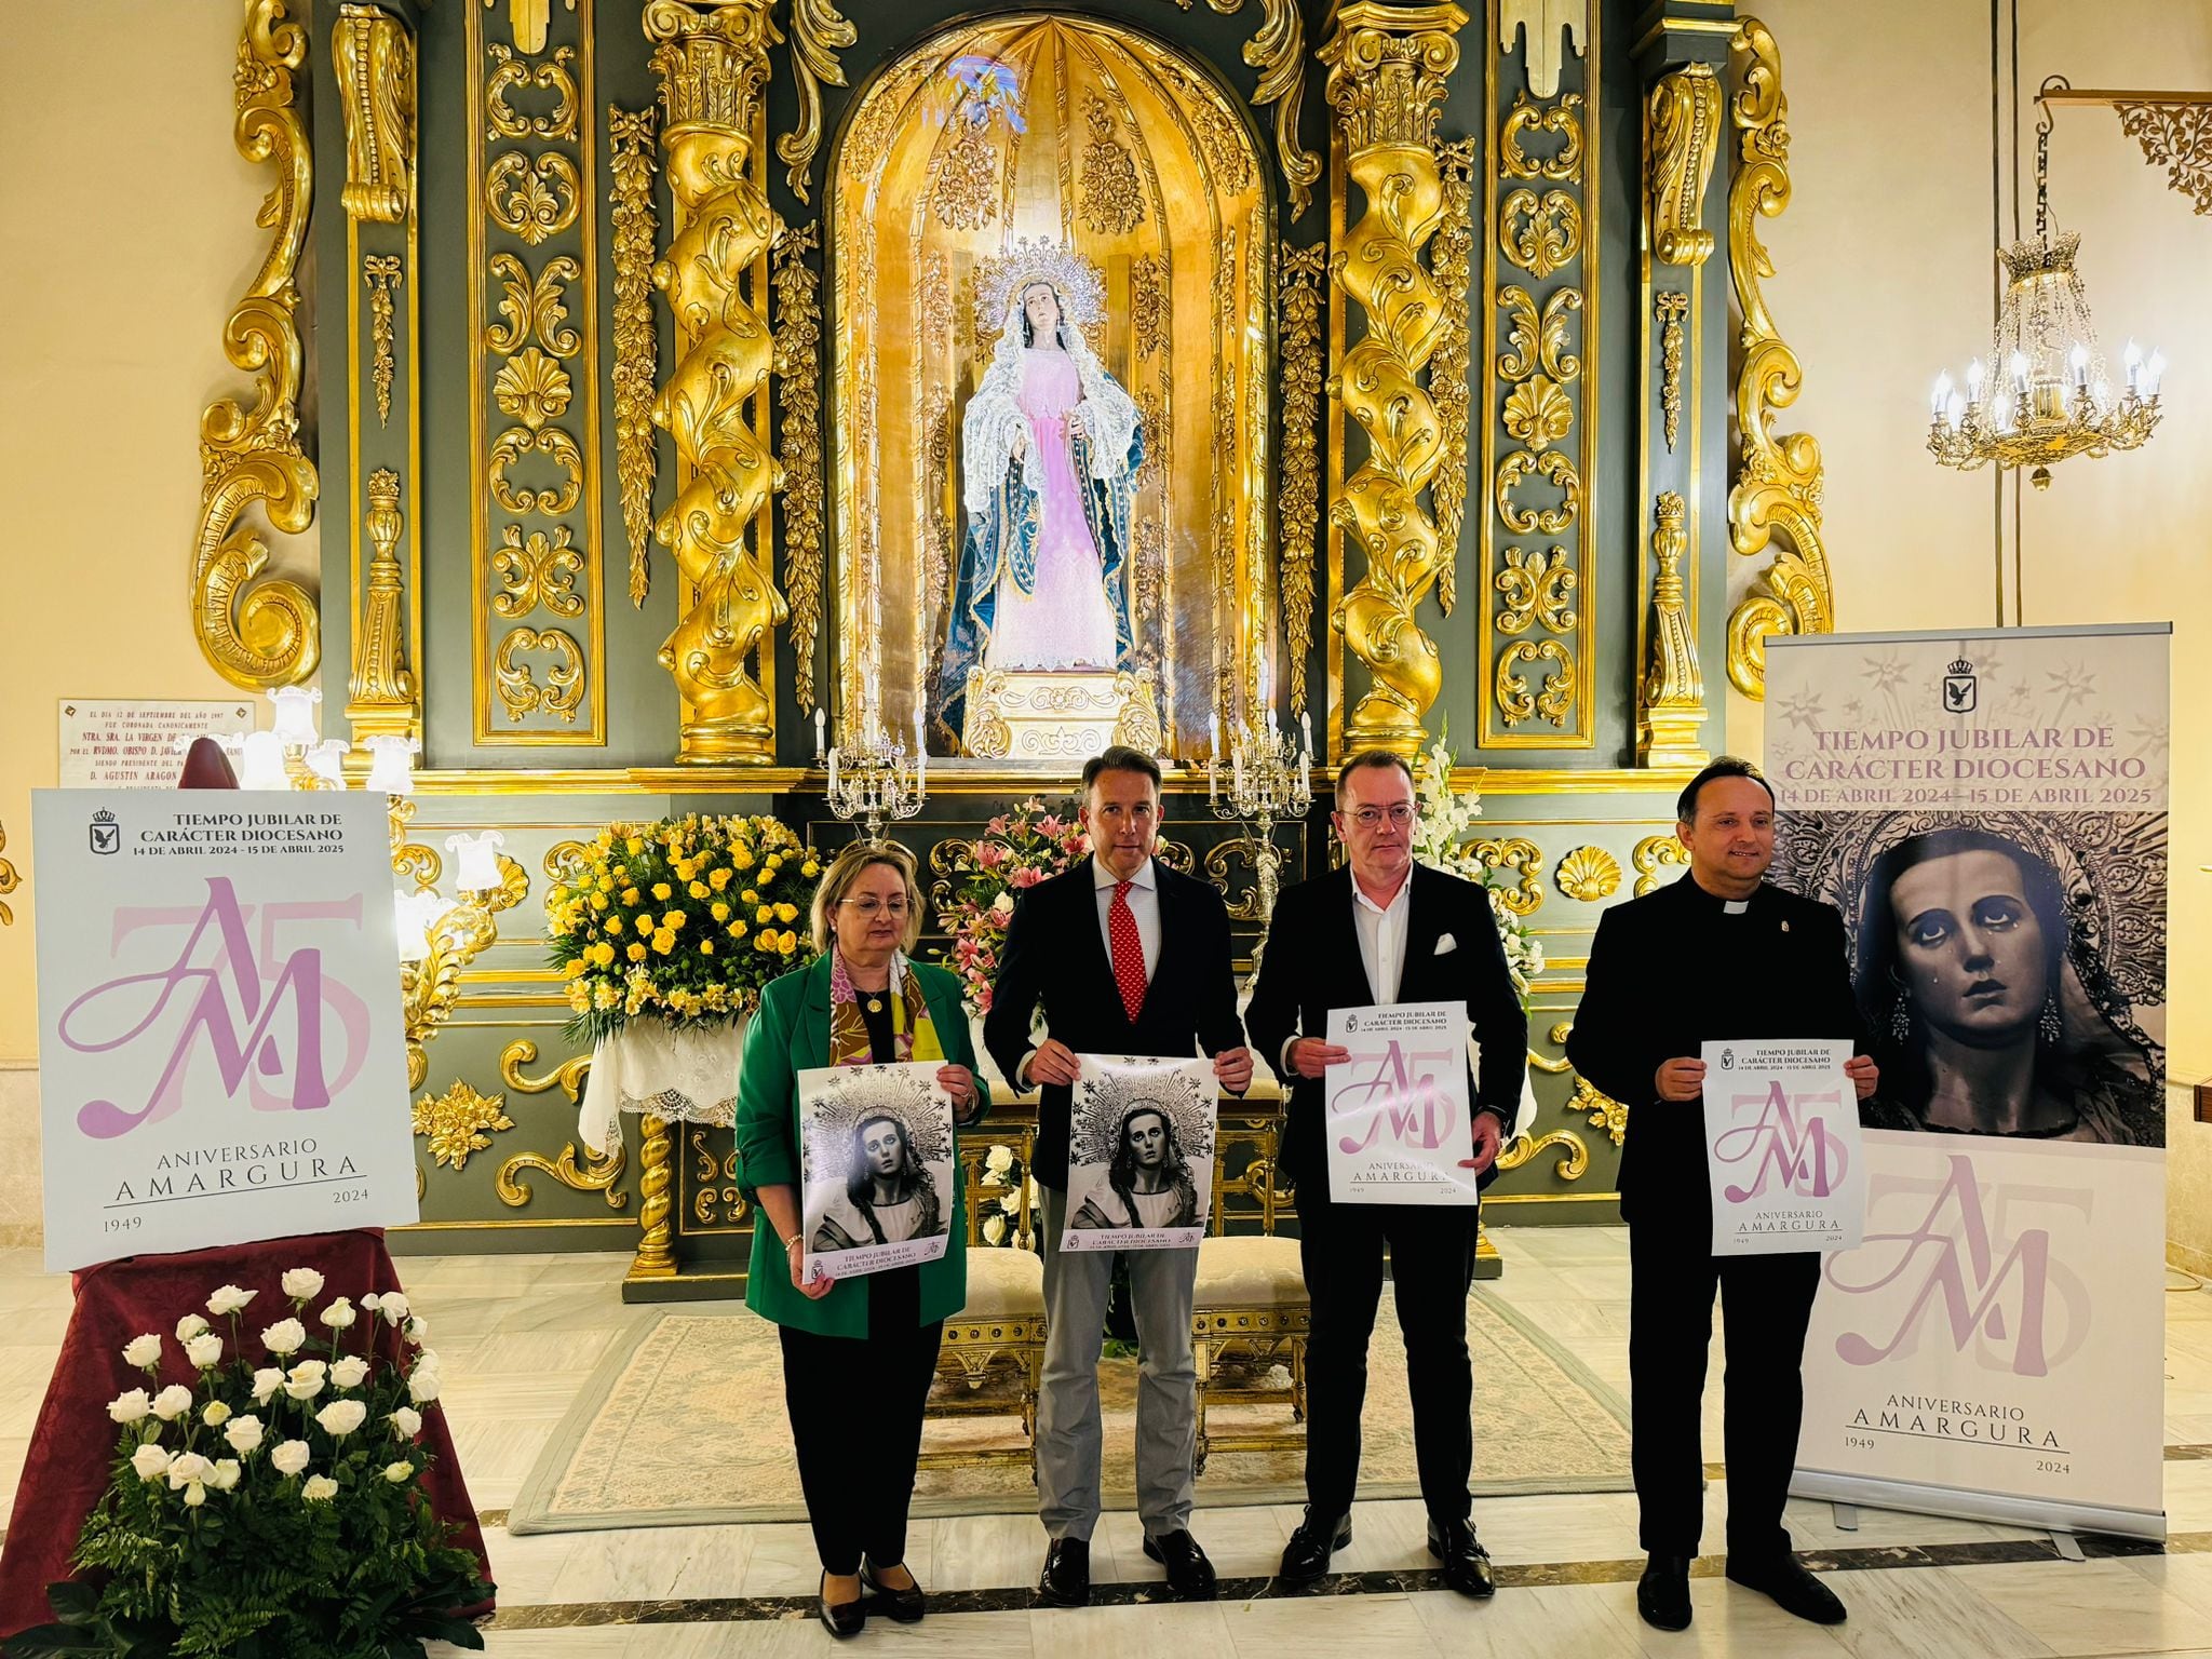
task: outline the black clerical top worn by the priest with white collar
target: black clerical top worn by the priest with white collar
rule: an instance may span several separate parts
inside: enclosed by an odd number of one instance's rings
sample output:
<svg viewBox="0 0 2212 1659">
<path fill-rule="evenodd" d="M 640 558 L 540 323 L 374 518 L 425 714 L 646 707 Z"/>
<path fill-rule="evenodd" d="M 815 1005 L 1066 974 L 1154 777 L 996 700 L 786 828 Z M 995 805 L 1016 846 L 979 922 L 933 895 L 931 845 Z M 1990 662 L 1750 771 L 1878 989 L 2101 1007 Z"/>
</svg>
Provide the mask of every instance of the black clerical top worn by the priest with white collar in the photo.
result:
<svg viewBox="0 0 2212 1659">
<path fill-rule="evenodd" d="M 1694 876 L 1599 918 L 1566 1057 L 1628 1106 L 1621 1214 L 1646 1206 L 1710 1230 L 1703 1106 L 1659 1099 L 1655 1073 L 1708 1042 L 1847 1037 L 1865 1051 L 1843 916 L 1765 883 L 1741 909 Z M 1663 1210 L 1659 1210 L 1663 1206 Z"/>
</svg>

